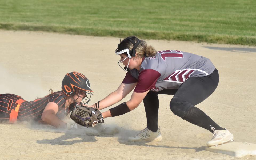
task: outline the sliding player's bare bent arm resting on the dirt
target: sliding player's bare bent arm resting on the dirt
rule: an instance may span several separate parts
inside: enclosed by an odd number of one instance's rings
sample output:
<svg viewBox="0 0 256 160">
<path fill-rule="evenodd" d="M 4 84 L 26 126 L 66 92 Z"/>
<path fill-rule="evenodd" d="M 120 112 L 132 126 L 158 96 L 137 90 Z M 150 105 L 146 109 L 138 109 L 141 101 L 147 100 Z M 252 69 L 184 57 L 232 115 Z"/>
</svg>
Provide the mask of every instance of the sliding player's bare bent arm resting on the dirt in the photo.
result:
<svg viewBox="0 0 256 160">
<path fill-rule="evenodd" d="M 45 109 L 42 113 L 42 121 L 44 121 L 47 124 L 50 124 L 56 128 L 67 128 L 67 123 L 60 120 L 56 113 L 58 112 L 59 107 L 54 102 L 47 103 Z"/>
</svg>

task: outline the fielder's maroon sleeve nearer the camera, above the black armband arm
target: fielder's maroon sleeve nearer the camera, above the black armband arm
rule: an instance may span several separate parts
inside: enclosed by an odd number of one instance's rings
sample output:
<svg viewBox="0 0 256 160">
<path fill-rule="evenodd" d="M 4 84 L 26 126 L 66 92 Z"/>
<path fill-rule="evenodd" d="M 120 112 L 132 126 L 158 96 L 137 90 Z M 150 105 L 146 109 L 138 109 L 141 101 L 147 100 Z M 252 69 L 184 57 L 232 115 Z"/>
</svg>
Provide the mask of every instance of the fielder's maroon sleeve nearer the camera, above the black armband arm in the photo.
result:
<svg viewBox="0 0 256 160">
<path fill-rule="evenodd" d="M 155 87 L 157 79 L 160 77 L 160 73 L 153 69 L 145 69 L 139 73 L 138 83 L 134 89 L 136 93 L 143 93 L 147 90 Z"/>
</svg>

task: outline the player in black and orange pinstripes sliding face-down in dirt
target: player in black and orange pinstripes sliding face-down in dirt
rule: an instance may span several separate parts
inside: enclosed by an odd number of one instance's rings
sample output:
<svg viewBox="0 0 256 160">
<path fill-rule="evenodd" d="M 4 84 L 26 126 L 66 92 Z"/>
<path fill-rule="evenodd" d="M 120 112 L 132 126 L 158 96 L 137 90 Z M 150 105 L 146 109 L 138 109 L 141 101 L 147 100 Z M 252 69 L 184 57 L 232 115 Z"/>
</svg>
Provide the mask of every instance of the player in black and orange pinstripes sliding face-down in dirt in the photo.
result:
<svg viewBox="0 0 256 160">
<path fill-rule="evenodd" d="M 62 81 L 62 91 L 51 93 L 44 98 L 25 101 L 14 94 L 0 94 L 0 122 L 43 121 L 57 128 L 76 128 L 77 124 L 63 122 L 65 116 L 83 101 L 91 97 L 90 82 L 81 73 L 67 73 Z"/>
</svg>

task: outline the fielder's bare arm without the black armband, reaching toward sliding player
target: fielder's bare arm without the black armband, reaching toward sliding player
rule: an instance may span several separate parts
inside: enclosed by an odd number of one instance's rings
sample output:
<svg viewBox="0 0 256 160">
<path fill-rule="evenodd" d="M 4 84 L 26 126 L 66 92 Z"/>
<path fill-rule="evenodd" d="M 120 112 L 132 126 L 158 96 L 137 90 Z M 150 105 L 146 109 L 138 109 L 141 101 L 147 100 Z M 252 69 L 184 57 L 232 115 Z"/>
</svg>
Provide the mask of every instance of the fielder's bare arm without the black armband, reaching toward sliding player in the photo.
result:
<svg viewBox="0 0 256 160">
<path fill-rule="evenodd" d="M 136 84 L 137 83 L 131 83 L 131 84 L 121 83 L 121 85 L 118 87 L 117 90 L 110 93 L 108 96 L 106 96 L 104 99 L 100 101 L 99 110 L 112 106 L 113 104 L 125 98 L 125 96 L 127 96 L 127 94 L 129 94 L 134 89 Z M 93 106 L 89 106 L 89 107 L 95 108 L 96 106 L 94 104 Z"/>
</svg>

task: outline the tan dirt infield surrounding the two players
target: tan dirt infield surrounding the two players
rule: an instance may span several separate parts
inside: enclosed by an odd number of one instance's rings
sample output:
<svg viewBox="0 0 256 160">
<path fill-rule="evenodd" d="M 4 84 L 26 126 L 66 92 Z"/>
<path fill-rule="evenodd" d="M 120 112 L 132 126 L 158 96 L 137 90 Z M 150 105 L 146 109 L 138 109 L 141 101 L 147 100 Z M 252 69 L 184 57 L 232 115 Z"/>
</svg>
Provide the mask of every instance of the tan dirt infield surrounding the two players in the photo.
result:
<svg viewBox="0 0 256 160">
<path fill-rule="evenodd" d="M 64 75 L 79 71 L 89 78 L 92 103 L 96 102 L 114 91 L 125 76 L 114 54 L 118 42 L 113 37 L 0 30 L 0 93 L 34 100 L 47 95 L 50 87 L 61 90 Z M 156 50 L 181 50 L 209 58 L 219 70 L 219 86 L 197 107 L 228 128 L 236 142 L 256 143 L 255 47 L 147 42 Z M 127 142 L 128 136 L 146 127 L 142 103 L 126 115 L 105 119 L 103 125 L 77 131 L 29 123 L 0 124 L 0 159 L 256 159 L 203 150 L 212 134 L 173 115 L 171 97 L 159 95 L 161 142 Z M 129 98 L 130 94 L 122 102 Z"/>
</svg>

